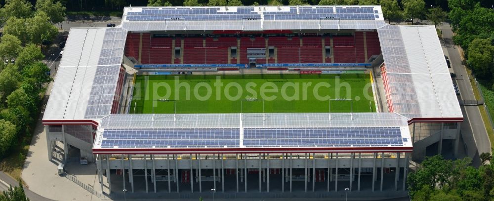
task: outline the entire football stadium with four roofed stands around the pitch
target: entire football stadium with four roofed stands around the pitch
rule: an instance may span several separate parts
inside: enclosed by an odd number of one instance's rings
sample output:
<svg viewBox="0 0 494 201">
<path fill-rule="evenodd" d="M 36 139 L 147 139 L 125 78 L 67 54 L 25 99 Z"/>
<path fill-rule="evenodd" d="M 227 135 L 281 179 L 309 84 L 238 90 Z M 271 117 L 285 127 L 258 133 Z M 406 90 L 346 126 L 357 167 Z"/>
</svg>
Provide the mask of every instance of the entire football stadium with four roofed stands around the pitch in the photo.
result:
<svg viewBox="0 0 494 201">
<path fill-rule="evenodd" d="M 92 194 L 192 200 L 403 197 L 462 121 L 434 26 L 379 5 L 125 7 L 70 30 L 43 116 Z"/>
</svg>

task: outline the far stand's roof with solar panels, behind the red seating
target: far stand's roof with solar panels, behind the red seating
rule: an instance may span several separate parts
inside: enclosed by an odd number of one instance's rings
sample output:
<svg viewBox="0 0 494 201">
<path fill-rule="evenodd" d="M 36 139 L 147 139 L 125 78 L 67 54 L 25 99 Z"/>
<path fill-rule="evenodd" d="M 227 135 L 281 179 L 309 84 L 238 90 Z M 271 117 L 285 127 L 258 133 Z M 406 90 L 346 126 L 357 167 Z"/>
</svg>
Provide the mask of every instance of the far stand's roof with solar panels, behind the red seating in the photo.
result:
<svg viewBox="0 0 494 201">
<path fill-rule="evenodd" d="M 128 31 L 377 29 L 380 5 L 125 7 Z"/>
</svg>

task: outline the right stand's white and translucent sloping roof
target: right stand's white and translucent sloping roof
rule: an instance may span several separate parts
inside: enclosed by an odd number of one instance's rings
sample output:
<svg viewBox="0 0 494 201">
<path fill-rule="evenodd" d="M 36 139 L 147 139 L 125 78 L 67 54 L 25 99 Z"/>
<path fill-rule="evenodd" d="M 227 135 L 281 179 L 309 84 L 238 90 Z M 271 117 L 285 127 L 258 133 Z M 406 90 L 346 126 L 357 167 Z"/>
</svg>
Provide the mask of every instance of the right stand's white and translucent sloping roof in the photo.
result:
<svg viewBox="0 0 494 201">
<path fill-rule="evenodd" d="M 377 32 L 390 112 L 414 121 L 462 121 L 434 26 L 386 25 Z"/>
</svg>

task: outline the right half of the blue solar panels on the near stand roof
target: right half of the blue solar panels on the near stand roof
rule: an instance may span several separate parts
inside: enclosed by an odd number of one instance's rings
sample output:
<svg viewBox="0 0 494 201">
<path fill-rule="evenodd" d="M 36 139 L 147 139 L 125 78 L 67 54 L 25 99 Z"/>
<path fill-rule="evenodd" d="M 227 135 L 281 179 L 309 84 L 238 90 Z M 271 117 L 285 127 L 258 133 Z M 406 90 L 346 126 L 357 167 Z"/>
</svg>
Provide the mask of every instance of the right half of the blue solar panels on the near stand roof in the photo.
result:
<svg viewBox="0 0 494 201">
<path fill-rule="evenodd" d="M 403 146 L 399 127 L 245 128 L 246 147 Z"/>
</svg>

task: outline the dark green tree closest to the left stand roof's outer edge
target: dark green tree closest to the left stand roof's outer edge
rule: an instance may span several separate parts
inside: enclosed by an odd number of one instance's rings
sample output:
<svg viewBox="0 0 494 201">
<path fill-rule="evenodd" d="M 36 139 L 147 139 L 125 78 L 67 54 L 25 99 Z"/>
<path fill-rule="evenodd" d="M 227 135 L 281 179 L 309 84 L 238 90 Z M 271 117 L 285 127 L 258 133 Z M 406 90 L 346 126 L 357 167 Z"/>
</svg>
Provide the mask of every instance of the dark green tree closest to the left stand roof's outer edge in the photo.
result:
<svg viewBox="0 0 494 201">
<path fill-rule="evenodd" d="M 25 67 L 22 70 L 22 75 L 27 79 L 34 79 L 35 88 L 41 92 L 43 89 L 43 84 L 49 83 L 52 81 L 50 76 L 47 74 L 50 72 L 50 68 L 41 62 L 34 63 Z"/>
</svg>

